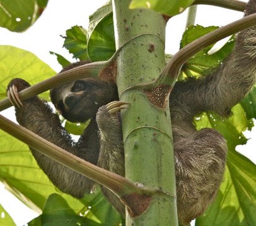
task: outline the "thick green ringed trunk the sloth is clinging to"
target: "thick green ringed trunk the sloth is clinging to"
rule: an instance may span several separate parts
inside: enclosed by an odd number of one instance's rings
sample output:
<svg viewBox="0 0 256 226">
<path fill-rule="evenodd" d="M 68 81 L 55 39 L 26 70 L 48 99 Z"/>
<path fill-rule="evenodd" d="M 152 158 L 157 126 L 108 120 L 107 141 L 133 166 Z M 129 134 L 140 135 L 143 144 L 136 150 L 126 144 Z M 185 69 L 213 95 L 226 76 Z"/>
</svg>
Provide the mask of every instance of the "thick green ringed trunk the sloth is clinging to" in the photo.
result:
<svg viewBox="0 0 256 226">
<path fill-rule="evenodd" d="M 152 82 L 165 65 L 165 26 L 161 14 L 148 9 L 129 10 L 129 0 L 113 0 L 117 85 L 123 110 L 125 177 L 157 193 L 149 208 L 126 225 L 178 225 L 172 127 L 168 106 L 160 109 L 146 97 L 139 83 Z M 137 203 L 140 205 L 140 203 Z"/>
</svg>

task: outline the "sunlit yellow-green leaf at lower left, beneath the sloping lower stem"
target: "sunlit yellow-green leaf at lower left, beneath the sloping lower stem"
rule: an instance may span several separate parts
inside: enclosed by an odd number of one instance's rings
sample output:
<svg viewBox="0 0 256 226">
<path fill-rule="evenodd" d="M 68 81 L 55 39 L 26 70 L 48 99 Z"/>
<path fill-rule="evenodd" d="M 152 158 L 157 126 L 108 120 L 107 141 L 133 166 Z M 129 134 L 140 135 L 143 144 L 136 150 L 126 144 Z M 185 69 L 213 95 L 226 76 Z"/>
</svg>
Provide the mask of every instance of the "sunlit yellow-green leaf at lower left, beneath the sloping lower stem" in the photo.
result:
<svg viewBox="0 0 256 226">
<path fill-rule="evenodd" d="M 38 167 L 28 146 L 0 130 L 0 180 L 33 210 L 43 208 L 55 187 Z"/>
</svg>

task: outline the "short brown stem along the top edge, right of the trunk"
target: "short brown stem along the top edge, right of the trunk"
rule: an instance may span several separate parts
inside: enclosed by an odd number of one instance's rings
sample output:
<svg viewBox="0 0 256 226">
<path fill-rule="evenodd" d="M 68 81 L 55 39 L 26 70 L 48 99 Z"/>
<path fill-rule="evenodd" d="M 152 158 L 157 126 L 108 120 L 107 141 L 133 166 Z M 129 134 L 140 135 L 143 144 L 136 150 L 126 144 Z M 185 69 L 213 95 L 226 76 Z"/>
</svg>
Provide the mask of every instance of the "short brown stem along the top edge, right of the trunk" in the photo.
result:
<svg viewBox="0 0 256 226">
<path fill-rule="evenodd" d="M 195 0 L 193 5 L 207 4 L 243 12 L 247 3 L 236 0 Z"/>
</svg>

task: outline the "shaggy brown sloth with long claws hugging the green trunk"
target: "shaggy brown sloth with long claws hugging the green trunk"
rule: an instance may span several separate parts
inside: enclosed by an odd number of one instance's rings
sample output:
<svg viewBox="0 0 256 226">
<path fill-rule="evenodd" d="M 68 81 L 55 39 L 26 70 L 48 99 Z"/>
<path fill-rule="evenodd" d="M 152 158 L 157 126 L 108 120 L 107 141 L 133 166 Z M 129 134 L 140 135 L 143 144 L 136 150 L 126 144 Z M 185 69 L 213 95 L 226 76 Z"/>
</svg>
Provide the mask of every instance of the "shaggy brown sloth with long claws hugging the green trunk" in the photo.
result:
<svg viewBox="0 0 256 226">
<path fill-rule="evenodd" d="M 256 0 L 247 4 L 245 16 L 255 13 Z M 231 53 L 218 68 L 202 78 L 177 82 L 170 94 L 174 143 L 177 209 L 180 223 L 201 215 L 214 200 L 223 180 L 226 141 L 214 129 L 195 129 L 194 117 L 214 112 L 221 117 L 250 92 L 255 83 L 256 27 L 240 31 Z M 88 62 L 70 65 L 64 70 Z M 20 101 L 18 92 L 29 83 L 15 78 L 8 85 L 8 97 L 15 105 L 16 119 L 44 139 L 105 170 L 125 176 L 122 122 L 117 85 L 98 78 L 84 78 L 50 90 L 55 108 L 71 122 L 90 123 L 78 142 L 61 126 L 59 116 L 38 97 Z M 110 103 L 110 104 L 109 104 Z M 61 191 L 81 198 L 95 184 L 74 170 L 30 148 L 38 165 Z M 125 207 L 112 191 L 103 194 L 123 216 Z"/>
</svg>

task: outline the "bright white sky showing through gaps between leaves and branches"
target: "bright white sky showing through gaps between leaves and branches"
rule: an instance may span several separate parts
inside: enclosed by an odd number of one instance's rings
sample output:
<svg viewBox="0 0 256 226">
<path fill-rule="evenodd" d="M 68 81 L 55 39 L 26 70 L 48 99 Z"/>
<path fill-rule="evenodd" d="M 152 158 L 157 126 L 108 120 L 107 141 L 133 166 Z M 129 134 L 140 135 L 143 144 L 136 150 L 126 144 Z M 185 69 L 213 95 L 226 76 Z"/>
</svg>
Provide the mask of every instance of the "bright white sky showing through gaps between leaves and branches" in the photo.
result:
<svg viewBox="0 0 256 226">
<path fill-rule="evenodd" d="M 49 51 L 60 53 L 61 55 L 73 61 L 68 52 L 62 49 L 63 39 L 60 35 L 65 35 L 65 31 L 71 26 L 79 25 L 88 28 L 88 16 L 96 9 L 105 4 L 107 0 L 49 0 L 49 4 L 42 16 L 24 33 L 11 33 L 10 31 L 0 28 L 0 45 L 12 45 L 24 50 L 31 51 L 45 63 L 49 64 L 56 72 L 61 70 L 55 56 L 50 55 Z M 176 53 L 179 48 L 179 41 L 185 29 L 186 14 L 183 13 L 175 18 L 170 19 L 166 29 L 166 53 Z M 240 19 L 243 13 L 231 11 L 228 9 L 216 8 L 213 6 L 199 6 L 197 9 L 197 18 L 195 23 L 202 26 L 223 26 Z M 9 112 L 7 113 L 9 116 Z M 253 132 L 247 132 L 248 148 L 239 147 L 241 153 L 248 156 L 256 163 L 256 154 L 253 149 L 256 146 L 256 129 Z M 26 222 L 35 217 L 21 207 L 19 203 L 9 193 L 6 193 L 3 186 L 0 185 L 0 203 L 11 214 L 17 225 L 24 225 Z M 0 215 L 1 219 L 1 215 Z"/>
</svg>

